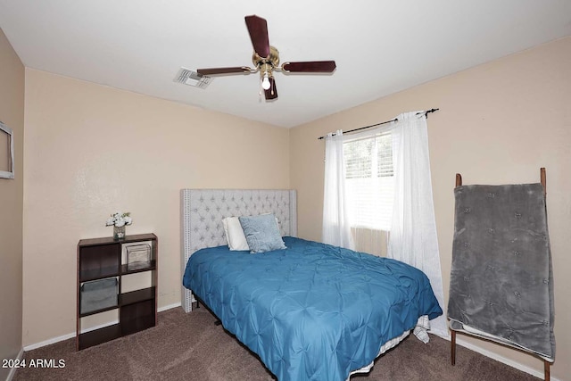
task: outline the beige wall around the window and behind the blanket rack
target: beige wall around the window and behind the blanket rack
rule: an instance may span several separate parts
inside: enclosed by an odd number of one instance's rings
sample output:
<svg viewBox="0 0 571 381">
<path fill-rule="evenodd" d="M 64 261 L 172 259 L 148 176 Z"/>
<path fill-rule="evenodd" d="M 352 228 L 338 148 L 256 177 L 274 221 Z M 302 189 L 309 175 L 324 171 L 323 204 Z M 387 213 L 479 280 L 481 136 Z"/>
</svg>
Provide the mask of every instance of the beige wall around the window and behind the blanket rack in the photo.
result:
<svg viewBox="0 0 571 381">
<path fill-rule="evenodd" d="M 429 115 L 428 138 L 446 302 L 455 174 L 460 172 L 465 184 L 527 183 L 538 182 L 545 167 L 557 340 L 551 375 L 570 380 L 571 37 L 293 128 L 290 185 L 299 195 L 300 236 L 321 236 L 324 142 L 317 137 L 433 107 L 440 111 Z M 542 372 L 542 362 L 527 354 L 466 341 Z"/>
</svg>

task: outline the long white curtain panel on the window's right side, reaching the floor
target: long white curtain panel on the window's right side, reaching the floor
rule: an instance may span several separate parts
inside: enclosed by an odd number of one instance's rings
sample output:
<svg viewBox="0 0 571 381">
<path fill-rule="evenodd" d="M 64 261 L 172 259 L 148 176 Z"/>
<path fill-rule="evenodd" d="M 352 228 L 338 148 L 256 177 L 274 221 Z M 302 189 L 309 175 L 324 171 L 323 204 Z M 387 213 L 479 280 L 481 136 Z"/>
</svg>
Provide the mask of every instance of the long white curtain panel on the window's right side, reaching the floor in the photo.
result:
<svg viewBox="0 0 571 381">
<path fill-rule="evenodd" d="M 421 269 L 444 309 L 426 116 L 424 112 L 417 113 L 399 115 L 392 130 L 394 201 L 388 256 Z M 448 337 L 444 315 L 430 321 L 434 335 Z"/>
</svg>

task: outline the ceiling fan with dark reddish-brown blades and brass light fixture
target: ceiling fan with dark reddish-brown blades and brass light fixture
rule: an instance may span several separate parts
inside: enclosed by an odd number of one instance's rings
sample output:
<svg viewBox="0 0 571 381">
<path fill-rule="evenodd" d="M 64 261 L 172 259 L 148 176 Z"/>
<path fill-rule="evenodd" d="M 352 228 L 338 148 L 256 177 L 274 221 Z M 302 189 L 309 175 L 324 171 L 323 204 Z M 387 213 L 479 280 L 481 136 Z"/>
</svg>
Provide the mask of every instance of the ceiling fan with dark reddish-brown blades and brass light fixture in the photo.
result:
<svg viewBox="0 0 571 381">
<path fill-rule="evenodd" d="M 213 76 L 221 74 L 250 74 L 260 72 L 261 88 L 264 90 L 266 100 L 277 98 L 276 80 L 274 71 L 297 72 L 297 73 L 330 73 L 335 70 L 335 61 L 305 61 L 284 62 L 279 65 L 279 52 L 274 46 L 269 45 L 268 23 L 265 19 L 256 16 L 246 16 L 246 27 L 252 39 L 254 68 L 237 66 L 232 68 L 198 69 L 199 74 Z"/>
</svg>

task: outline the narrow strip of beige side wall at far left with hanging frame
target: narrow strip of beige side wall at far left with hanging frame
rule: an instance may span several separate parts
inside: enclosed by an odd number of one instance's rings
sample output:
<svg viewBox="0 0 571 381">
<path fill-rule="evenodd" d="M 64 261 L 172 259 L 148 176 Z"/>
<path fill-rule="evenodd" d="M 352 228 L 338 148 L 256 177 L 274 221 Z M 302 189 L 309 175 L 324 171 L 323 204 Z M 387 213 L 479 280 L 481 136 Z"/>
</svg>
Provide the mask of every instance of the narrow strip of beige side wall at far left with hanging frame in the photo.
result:
<svg viewBox="0 0 571 381">
<path fill-rule="evenodd" d="M 15 153 L 14 179 L 0 178 L 0 359 L 21 350 L 24 73 L 0 29 L 0 120 L 13 130 Z M 9 371 L 0 368 L 0 379 Z"/>
</svg>

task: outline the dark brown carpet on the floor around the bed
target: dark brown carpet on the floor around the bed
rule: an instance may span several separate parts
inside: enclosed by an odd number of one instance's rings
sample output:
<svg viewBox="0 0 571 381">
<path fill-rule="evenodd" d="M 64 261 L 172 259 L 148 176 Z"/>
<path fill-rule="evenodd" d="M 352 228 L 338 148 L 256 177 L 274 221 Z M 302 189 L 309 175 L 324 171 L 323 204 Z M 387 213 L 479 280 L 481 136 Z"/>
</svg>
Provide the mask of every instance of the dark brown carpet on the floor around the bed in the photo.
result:
<svg viewBox="0 0 571 381">
<path fill-rule="evenodd" d="M 25 352 L 26 363 L 63 360 L 64 367 L 18 369 L 14 380 L 276 379 L 255 354 L 214 321 L 204 308 L 188 314 L 176 308 L 159 313 L 156 327 L 80 352 L 75 350 L 75 339 L 47 345 Z M 538 379 L 461 346 L 452 367 L 450 342 L 434 335 L 429 344 L 410 335 L 378 358 L 370 373 L 351 377 L 352 381 Z"/>
</svg>

